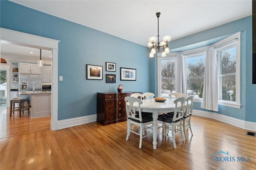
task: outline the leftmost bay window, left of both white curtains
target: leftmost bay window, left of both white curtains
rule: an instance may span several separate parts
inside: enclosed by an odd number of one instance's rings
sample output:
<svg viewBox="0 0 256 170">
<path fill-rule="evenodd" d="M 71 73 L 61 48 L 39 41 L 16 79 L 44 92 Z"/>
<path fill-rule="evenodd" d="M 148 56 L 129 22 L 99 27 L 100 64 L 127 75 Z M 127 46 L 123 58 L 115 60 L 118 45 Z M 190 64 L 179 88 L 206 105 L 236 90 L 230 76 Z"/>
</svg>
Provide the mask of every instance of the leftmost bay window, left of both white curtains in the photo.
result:
<svg viewBox="0 0 256 170">
<path fill-rule="evenodd" d="M 160 94 L 162 97 L 169 97 L 170 93 L 175 92 L 176 58 L 161 58 L 158 63 L 158 96 Z"/>
</svg>

